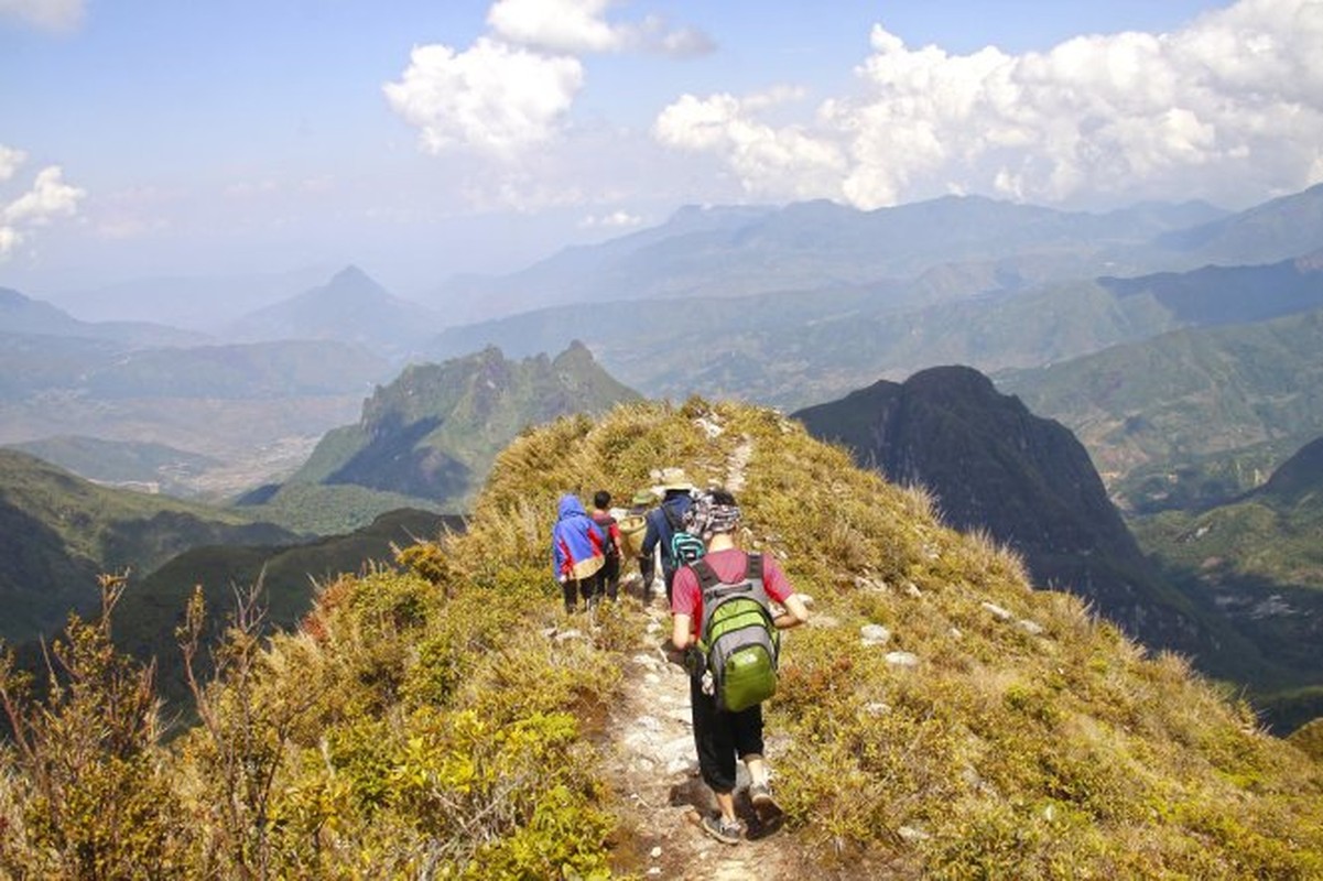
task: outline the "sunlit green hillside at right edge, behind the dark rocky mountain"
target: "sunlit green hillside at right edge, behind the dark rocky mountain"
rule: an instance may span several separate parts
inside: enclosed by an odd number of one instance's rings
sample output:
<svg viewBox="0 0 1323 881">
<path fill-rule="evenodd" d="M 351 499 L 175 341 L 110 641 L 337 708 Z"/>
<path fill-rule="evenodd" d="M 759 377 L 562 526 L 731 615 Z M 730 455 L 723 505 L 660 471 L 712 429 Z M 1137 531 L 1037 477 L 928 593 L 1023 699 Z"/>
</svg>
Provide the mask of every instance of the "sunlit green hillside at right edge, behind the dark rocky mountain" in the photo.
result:
<svg viewBox="0 0 1323 881">
<path fill-rule="evenodd" d="M 1189 329 L 998 385 L 1065 423 L 1136 512 L 1207 507 L 1323 434 L 1323 311 Z"/>
</svg>

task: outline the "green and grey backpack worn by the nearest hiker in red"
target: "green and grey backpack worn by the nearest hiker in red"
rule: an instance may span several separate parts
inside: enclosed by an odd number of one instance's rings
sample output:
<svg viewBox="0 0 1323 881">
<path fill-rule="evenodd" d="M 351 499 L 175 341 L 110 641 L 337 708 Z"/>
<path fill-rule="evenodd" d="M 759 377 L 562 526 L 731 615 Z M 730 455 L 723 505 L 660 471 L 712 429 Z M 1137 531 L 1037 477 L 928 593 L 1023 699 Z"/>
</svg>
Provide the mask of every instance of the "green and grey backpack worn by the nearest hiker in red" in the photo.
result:
<svg viewBox="0 0 1323 881">
<path fill-rule="evenodd" d="M 699 648 L 712 672 L 717 706 L 749 709 L 777 693 L 781 634 L 762 582 L 762 554 L 747 554 L 744 579 L 725 583 L 706 560 L 689 564 L 703 590 Z"/>
</svg>

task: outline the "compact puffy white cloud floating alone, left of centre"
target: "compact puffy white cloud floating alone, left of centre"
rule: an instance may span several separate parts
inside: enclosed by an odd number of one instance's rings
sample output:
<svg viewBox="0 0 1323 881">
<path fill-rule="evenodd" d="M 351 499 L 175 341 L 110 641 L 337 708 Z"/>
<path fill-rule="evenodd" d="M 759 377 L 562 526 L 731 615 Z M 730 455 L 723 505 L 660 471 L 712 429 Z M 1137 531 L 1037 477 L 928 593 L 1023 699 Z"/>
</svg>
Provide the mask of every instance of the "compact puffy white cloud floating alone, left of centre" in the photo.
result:
<svg viewBox="0 0 1323 881">
<path fill-rule="evenodd" d="M 390 107 L 419 130 L 426 152 L 464 146 L 503 159 L 550 140 L 583 85 L 583 66 L 480 38 L 466 52 L 418 46 L 400 82 L 386 83 Z"/>
</svg>

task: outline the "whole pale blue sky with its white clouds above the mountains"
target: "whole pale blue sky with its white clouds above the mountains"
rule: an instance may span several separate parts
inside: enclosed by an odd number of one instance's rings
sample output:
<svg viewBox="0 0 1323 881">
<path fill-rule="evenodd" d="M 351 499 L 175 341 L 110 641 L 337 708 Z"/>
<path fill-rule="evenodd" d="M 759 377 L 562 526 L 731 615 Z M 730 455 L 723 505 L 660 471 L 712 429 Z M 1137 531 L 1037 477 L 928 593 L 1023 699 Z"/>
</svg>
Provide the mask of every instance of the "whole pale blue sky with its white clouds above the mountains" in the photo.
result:
<svg viewBox="0 0 1323 881">
<path fill-rule="evenodd" d="M 1323 180 L 1323 0 L 0 0 L 0 286 L 404 296 L 693 202 L 1245 208 Z"/>
</svg>

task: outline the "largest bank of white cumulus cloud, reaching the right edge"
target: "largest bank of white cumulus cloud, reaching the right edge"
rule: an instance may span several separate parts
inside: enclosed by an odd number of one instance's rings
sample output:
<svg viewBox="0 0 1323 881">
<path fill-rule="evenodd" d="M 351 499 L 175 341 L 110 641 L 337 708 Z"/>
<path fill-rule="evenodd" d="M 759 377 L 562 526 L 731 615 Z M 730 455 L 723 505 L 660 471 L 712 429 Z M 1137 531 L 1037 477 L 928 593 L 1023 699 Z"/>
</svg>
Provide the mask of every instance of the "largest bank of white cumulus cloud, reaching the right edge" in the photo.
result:
<svg viewBox="0 0 1323 881">
<path fill-rule="evenodd" d="M 1170 34 L 1048 52 L 910 49 L 875 25 L 856 94 L 773 127 L 757 101 L 684 95 L 654 134 L 761 196 L 877 208 L 943 192 L 1029 201 L 1293 192 L 1323 169 L 1323 3 L 1241 0 Z"/>
</svg>

